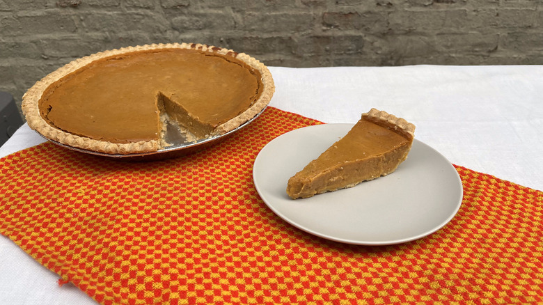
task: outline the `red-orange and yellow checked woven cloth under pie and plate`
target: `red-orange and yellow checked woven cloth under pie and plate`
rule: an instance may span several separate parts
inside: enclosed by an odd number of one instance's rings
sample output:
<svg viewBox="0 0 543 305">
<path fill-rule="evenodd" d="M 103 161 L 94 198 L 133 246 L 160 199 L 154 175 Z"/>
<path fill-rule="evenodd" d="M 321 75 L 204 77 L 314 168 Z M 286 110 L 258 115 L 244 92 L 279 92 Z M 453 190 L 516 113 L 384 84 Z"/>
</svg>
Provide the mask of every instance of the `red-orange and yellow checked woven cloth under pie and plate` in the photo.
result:
<svg viewBox="0 0 543 305">
<path fill-rule="evenodd" d="M 0 161 L 0 233 L 102 304 L 543 302 L 543 193 L 491 175 L 456 166 L 458 214 L 406 244 L 339 244 L 277 217 L 254 159 L 317 123 L 270 107 L 217 146 L 159 162 L 22 150 Z"/>
</svg>

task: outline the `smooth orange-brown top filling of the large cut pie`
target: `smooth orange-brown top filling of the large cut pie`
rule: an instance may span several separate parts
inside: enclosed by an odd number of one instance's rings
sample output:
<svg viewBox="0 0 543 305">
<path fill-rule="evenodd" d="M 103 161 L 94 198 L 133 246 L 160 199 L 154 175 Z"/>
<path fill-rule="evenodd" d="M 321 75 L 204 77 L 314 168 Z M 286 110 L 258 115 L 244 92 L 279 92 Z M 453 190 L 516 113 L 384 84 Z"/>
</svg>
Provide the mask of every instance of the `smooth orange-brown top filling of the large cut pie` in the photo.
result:
<svg viewBox="0 0 543 305">
<path fill-rule="evenodd" d="M 159 138 L 159 93 L 216 127 L 248 109 L 261 91 L 260 72 L 236 58 L 159 49 L 86 65 L 50 86 L 39 107 L 42 118 L 58 129 L 129 143 Z"/>
</svg>

